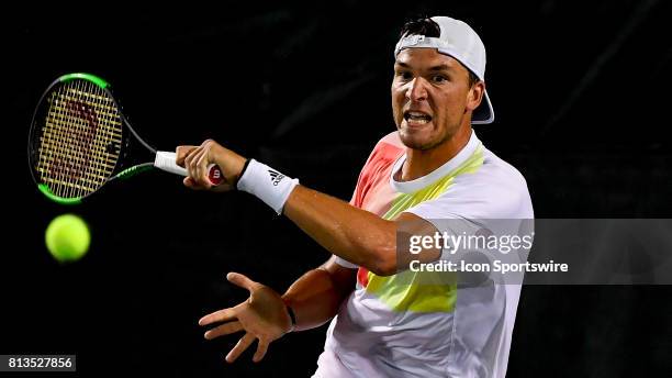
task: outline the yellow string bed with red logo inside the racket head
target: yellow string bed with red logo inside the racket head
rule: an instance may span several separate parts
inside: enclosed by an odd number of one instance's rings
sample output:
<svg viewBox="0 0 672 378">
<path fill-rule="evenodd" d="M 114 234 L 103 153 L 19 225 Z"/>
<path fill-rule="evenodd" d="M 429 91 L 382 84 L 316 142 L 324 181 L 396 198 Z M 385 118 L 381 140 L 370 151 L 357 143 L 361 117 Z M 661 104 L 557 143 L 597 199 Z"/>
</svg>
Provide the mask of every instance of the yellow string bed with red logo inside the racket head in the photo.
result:
<svg viewBox="0 0 672 378">
<path fill-rule="evenodd" d="M 105 90 L 88 80 L 60 85 L 48 97 L 37 171 L 61 198 L 80 198 L 111 176 L 122 143 L 122 120 Z"/>
</svg>

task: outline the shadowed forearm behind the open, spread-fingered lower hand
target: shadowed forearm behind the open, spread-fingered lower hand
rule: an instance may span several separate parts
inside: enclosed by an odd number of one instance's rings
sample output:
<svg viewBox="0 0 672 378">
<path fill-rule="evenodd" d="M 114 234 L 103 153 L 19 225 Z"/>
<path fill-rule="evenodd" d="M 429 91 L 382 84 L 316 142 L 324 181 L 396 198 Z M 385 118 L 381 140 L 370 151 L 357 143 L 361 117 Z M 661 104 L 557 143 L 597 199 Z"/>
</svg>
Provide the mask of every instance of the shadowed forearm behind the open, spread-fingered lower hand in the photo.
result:
<svg viewBox="0 0 672 378">
<path fill-rule="evenodd" d="M 301 276 L 282 296 L 296 316 L 296 331 L 328 322 L 354 287 L 339 286 L 327 270 L 318 268 Z"/>
</svg>

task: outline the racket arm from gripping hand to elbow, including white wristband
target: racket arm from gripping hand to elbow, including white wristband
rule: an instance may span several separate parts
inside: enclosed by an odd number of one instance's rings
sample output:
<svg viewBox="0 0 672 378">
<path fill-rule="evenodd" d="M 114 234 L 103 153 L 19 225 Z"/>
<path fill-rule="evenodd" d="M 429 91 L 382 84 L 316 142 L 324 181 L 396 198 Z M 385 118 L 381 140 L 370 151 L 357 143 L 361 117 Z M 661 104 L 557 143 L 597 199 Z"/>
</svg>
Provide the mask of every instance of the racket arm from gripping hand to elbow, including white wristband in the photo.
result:
<svg viewBox="0 0 672 378">
<path fill-rule="evenodd" d="M 203 159 L 203 156 L 210 154 L 214 157 Z M 228 173 L 225 177 L 229 185 L 237 182 L 239 190 L 256 196 L 278 213 L 284 213 L 332 254 L 379 276 L 396 273 L 395 222 L 296 185 L 296 180 L 254 159 L 249 160 L 243 171 L 246 159 L 213 141 L 208 141 L 194 149 L 192 155 L 200 156 L 199 158 L 184 158 L 186 152 L 178 155 L 178 164 L 183 160 L 192 173 L 201 171 L 194 181 L 199 188 L 210 188 L 202 166 L 206 167 L 210 162 L 214 162 L 223 171 Z"/>
</svg>

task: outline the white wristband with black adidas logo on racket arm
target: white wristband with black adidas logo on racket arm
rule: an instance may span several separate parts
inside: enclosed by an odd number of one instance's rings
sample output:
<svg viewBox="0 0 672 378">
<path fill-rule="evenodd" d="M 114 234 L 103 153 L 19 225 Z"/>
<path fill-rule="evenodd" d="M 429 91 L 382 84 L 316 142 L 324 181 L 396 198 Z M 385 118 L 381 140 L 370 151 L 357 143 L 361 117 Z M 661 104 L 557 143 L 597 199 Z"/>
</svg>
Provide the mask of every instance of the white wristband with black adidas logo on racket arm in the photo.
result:
<svg viewBox="0 0 672 378">
<path fill-rule="evenodd" d="M 280 215 L 284 202 L 298 185 L 299 179 L 287 177 L 266 164 L 250 159 L 237 187 L 238 190 L 256 196 Z"/>
</svg>

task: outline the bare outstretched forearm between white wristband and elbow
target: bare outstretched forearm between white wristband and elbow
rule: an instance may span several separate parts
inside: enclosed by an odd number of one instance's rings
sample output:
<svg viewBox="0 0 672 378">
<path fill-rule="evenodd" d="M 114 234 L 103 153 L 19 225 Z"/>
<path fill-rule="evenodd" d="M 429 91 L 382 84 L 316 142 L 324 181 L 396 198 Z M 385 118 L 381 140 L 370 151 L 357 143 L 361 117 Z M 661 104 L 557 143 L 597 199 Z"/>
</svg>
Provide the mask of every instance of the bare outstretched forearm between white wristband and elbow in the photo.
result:
<svg viewBox="0 0 672 378">
<path fill-rule="evenodd" d="M 284 215 L 324 248 L 379 274 L 396 268 L 396 225 L 318 191 L 298 186 Z"/>
</svg>

